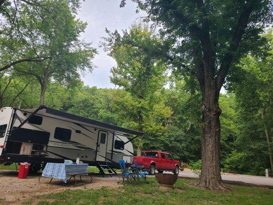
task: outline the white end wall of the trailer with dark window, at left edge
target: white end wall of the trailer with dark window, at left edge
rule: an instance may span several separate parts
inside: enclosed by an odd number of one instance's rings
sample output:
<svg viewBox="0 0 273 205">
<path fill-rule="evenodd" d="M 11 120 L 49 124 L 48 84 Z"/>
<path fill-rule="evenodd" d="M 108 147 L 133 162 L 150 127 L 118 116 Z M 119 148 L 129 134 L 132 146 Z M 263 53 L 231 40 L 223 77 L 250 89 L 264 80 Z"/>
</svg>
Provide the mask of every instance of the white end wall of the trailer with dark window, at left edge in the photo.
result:
<svg viewBox="0 0 273 205">
<path fill-rule="evenodd" d="M 6 107 L 0 109 L 0 155 L 4 149 L 7 130 L 12 116 L 12 108 Z"/>
</svg>

